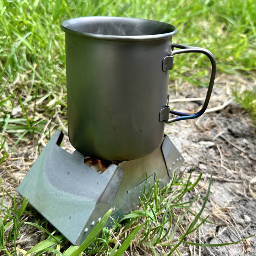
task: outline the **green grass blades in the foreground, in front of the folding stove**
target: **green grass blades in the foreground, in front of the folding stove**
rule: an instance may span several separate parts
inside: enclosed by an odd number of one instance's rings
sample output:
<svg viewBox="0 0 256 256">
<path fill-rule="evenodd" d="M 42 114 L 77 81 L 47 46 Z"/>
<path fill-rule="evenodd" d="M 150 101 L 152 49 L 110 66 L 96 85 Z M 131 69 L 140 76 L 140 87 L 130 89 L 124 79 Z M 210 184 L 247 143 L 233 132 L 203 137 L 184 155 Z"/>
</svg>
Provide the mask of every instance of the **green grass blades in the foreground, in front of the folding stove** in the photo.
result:
<svg viewBox="0 0 256 256">
<path fill-rule="evenodd" d="M 170 184 L 161 189 L 158 182 L 153 184 L 147 196 L 142 193 L 140 208 L 119 221 L 113 220 L 112 228 L 108 229 L 104 224 L 111 215 L 112 209 L 110 209 L 79 247 L 71 245 L 56 230 L 50 231 L 49 228 L 48 230 L 44 228 L 45 220 L 38 220 L 38 223 L 28 222 L 31 211 L 26 210 L 27 199 L 19 202 L 3 189 L 1 213 L 4 218 L 0 220 L 1 249 L 8 256 L 17 255 L 17 251 L 21 255 L 32 253 L 44 255 L 48 252 L 51 253 L 49 255 L 63 256 L 95 254 L 121 256 L 126 250 L 147 251 L 150 255 L 158 255 L 159 251 L 165 255 L 181 255 L 184 250 L 184 247 L 179 249 L 181 243 L 194 247 L 214 247 L 236 244 L 249 239 L 251 236 L 236 242 L 220 244 L 205 243 L 202 240 L 193 242 L 194 233 L 202 224 L 208 222 L 216 225 L 216 223 L 209 220 L 212 213 L 207 214 L 205 211 L 210 195 L 212 174 L 208 188 L 204 185 L 198 191 L 198 182 L 202 173 L 194 183 L 190 181 L 191 173 L 187 177 L 174 174 Z M 193 195 L 192 199 L 186 200 L 188 194 Z M 4 205 L 4 196 L 10 197 L 13 207 Z M 40 230 L 47 236 L 47 239 L 27 251 L 15 246 L 17 237 L 22 232 L 20 230 L 24 230 L 26 225 L 35 227 L 35 230 Z M 97 237 L 100 231 L 102 236 Z"/>
</svg>

